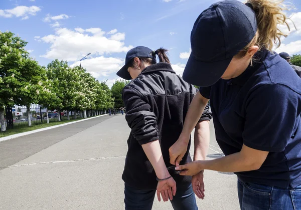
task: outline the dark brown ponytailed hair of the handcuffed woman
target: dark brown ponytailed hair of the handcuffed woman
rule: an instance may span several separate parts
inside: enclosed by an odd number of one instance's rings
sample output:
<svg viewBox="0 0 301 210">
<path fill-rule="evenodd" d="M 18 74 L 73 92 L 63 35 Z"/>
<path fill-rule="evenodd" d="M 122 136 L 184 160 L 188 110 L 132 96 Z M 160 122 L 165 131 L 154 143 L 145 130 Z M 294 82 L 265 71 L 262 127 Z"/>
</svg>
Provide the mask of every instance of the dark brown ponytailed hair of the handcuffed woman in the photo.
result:
<svg viewBox="0 0 301 210">
<path fill-rule="evenodd" d="M 153 65 L 153 64 L 156 64 L 157 63 L 157 59 L 156 59 L 156 55 L 158 55 L 159 57 L 159 62 L 162 62 L 162 63 L 169 63 L 170 64 L 170 60 L 168 58 L 168 50 L 167 49 L 164 49 L 164 48 L 159 48 L 158 50 L 156 51 L 153 51 L 153 59 L 152 58 L 139 58 L 139 60 L 141 61 L 141 65 L 139 68 L 141 69 L 144 69 L 144 65 L 147 64 L 147 65 Z M 134 64 L 134 59 L 132 59 L 130 61 L 130 65 L 129 66 L 135 66 Z"/>
</svg>

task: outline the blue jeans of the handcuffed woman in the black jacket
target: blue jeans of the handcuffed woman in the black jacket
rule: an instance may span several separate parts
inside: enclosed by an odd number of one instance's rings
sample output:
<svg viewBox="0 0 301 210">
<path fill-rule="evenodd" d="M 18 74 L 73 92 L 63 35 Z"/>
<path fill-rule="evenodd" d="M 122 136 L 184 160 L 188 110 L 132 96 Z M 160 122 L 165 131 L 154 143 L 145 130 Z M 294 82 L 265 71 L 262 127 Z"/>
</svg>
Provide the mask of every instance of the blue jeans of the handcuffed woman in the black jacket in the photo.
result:
<svg viewBox="0 0 301 210">
<path fill-rule="evenodd" d="M 151 210 L 156 190 L 136 189 L 125 183 L 124 195 L 125 210 Z M 175 210 L 198 210 L 191 184 L 189 187 L 177 186 L 176 195 L 171 203 Z"/>
</svg>

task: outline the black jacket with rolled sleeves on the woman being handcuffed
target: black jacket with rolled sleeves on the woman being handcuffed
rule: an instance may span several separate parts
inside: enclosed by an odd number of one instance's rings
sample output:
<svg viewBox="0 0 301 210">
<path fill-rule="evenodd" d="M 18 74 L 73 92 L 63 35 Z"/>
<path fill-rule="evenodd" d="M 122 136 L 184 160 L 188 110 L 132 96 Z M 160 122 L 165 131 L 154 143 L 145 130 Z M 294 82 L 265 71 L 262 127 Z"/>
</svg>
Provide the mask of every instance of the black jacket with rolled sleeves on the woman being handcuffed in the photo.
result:
<svg viewBox="0 0 301 210">
<path fill-rule="evenodd" d="M 169 148 L 181 134 L 189 104 L 196 93 L 197 89 L 177 76 L 168 63 L 146 67 L 124 87 L 125 119 L 131 128 L 122 175 L 125 183 L 138 189 L 156 189 L 155 170 L 141 145 L 159 139 L 165 164 L 170 166 Z M 207 105 L 200 120 L 211 118 Z M 192 161 L 189 149 L 190 142 L 181 164 Z M 191 182 L 189 176 L 171 175 L 181 185 Z"/>
</svg>

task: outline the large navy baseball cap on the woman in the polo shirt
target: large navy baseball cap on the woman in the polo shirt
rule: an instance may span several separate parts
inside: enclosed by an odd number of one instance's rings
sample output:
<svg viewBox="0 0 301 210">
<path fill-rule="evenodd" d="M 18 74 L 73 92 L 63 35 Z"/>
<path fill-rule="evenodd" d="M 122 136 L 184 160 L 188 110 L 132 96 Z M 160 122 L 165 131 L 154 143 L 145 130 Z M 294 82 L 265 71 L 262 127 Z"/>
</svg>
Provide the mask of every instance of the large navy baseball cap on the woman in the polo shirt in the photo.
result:
<svg viewBox="0 0 301 210">
<path fill-rule="evenodd" d="M 232 58 L 247 46 L 257 31 L 252 6 L 226 0 L 211 5 L 196 20 L 191 32 L 191 55 L 183 79 L 207 87 L 216 83 Z"/>
</svg>

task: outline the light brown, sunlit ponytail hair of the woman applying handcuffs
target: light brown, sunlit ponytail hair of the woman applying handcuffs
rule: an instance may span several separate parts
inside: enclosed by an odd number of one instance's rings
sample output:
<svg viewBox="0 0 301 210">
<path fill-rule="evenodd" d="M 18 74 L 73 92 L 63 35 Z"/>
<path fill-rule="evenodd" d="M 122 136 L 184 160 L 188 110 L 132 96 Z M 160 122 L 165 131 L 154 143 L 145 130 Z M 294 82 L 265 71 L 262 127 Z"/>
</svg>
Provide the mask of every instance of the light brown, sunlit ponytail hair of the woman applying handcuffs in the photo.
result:
<svg viewBox="0 0 301 210">
<path fill-rule="evenodd" d="M 280 37 L 287 37 L 278 28 L 279 25 L 286 25 L 290 31 L 284 11 L 289 9 L 289 5 L 283 3 L 284 0 L 247 0 L 251 4 L 256 14 L 257 32 L 253 40 L 239 53 L 240 56 L 245 56 L 248 49 L 254 45 L 266 50 L 273 51 L 273 45 L 277 48 L 281 44 Z M 292 6 L 290 6 L 293 8 Z"/>
</svg>

